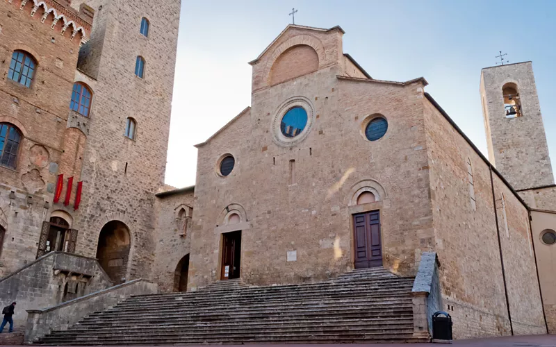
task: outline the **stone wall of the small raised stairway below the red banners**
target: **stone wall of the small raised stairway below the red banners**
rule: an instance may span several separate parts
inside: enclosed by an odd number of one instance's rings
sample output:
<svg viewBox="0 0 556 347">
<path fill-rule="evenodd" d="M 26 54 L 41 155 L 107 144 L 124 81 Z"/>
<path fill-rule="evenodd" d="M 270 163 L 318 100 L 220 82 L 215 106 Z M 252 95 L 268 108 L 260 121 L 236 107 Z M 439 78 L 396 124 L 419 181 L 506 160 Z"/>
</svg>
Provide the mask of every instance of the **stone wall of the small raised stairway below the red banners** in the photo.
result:
<svg viewBox="0 0 556 347">
<path fill-rule="evenodd" d="M 85 276 L 79 278 L 81 275 Z M 14 324 L 24 326 L 26 310 L 49 307 L 67 300 L 64 289 L 68 280 L 85 281 L 85 295 L 112 285 L 95 259 L 54 252 L 0 280 L 0 305 L 4 307 L 16 301 Z"/>
</svg>

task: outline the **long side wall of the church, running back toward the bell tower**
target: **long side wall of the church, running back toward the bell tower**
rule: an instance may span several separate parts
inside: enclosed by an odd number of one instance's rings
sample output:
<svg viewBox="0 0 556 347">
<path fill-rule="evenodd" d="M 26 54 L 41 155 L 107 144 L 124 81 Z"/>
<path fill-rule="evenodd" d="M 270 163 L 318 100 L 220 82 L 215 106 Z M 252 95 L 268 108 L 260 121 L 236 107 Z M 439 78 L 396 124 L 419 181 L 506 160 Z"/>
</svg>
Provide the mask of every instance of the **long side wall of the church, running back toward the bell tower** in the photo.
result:
<svg viewBox="0 0 556 347">
<path fill-rule="evenodd" d="M 509 335 L 489 166 L 428 101 L 425 124 L 441 289 L 444 303 L 454 307 L 448 310 L 455 322 L 454 337 Z M 473 168 L 476 210 L 469 194 L 468 158 Z M 494 180 L 514 332 L 543 333 L 528 211 L 500 178 L 495 175 Z M 508 234 L 501 210 L 502 193 Z"/>
</svg>

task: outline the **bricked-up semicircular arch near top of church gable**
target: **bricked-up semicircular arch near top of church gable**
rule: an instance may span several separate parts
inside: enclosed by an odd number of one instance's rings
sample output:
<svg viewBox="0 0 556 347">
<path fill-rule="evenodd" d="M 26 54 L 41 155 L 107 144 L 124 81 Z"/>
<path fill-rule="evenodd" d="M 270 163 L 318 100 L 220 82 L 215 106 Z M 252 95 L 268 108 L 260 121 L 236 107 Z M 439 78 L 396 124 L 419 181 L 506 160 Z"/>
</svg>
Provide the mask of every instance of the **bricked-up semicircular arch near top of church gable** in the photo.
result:
<svg viewBox="0 0 556 347">
<path fill-rule="evenodd" d="M 318 69 L 318 55 L 311 46 L 293 46 L 279 56 L 270 70 L 270 84 L 287 81 Z"/>
</svg>

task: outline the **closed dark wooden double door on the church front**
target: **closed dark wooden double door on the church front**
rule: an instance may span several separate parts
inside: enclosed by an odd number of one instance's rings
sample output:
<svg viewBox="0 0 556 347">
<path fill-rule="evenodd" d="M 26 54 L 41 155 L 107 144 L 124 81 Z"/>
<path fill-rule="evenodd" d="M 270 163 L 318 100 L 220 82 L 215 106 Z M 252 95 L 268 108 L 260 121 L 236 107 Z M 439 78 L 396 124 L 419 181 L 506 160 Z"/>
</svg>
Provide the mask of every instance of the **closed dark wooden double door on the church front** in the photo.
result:
<svg viewBox="0 0 556 347">
<path fill-rule="evenodd" d="M 355 269 L 382 266 L 379 211 L 353 215 Z"/>
</svg>

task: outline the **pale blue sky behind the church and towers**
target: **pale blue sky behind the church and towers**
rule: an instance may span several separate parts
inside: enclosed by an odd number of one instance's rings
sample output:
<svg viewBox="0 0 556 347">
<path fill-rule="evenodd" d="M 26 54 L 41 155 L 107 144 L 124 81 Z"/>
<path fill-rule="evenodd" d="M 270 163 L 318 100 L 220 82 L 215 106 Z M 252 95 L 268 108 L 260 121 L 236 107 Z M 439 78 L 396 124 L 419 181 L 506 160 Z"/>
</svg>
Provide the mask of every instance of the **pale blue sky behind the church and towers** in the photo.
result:
<svg viewBox="0 0 556 347">
<path fill-rule="evenodd" d="M 251 67 L 291 23 L 346 32 L 343 49 L 373 78 L 425 87 L 486 155 L 479 83 L 498 51 L 532 60 L 556 161 L 556 1 L 182 0 L 166 183 L 195 184 L 197 149 L 251 99 Z M 555 165 L 553 165 L 554 167 Z"/>
</svg>

